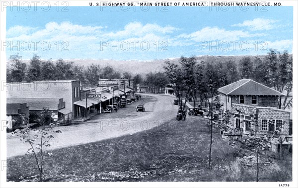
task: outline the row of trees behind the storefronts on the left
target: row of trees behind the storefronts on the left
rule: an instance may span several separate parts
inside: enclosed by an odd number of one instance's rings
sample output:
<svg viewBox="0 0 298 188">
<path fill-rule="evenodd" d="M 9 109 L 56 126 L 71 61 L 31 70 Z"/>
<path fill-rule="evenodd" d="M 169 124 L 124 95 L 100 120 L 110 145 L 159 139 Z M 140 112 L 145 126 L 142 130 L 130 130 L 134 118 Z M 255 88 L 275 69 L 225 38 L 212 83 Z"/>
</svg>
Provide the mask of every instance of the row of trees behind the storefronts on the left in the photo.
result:
<svg viewBox="0 0 298 188">
<path fill-rule="evenodd" d="M 7 82 L 34 82 L 45 80 L 80 80 L 83 85 L 97 85 L 99 79 L 132 79 L 138 80 L 140 75 L 133 76 L 130 72 L 119 72 L 111 66 L 100 67 L 74 65 L 72 61 L 63 59 L 41 60 L 34 55 L 29 64 L 21 56 L 10 56 L 6 68 Z M 138 83 L 137 81 L 136 83 Z"/>
</svg>

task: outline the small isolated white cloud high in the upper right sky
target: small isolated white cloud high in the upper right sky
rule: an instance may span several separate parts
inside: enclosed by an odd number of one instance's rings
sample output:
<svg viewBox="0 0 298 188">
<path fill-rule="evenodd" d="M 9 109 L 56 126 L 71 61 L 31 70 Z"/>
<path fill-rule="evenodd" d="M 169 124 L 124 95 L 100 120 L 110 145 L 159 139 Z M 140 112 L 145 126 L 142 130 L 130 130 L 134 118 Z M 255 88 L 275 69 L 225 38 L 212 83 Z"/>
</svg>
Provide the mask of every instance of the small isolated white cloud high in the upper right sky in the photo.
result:
<svg viewBox="0 0 298 188">
<path fill-rule="evenodd" d="M 273 19 L 263 19 L 263 18 L 255 18 L 253 20 L 245 20 L 243 23 L 233 24 L 232 26 L 238 27 L 248 27 L 248 29 L 256 31 L 256 30 L 270 30 L 273 29 L 274 23 L 277 20 Z"/>
</svg>

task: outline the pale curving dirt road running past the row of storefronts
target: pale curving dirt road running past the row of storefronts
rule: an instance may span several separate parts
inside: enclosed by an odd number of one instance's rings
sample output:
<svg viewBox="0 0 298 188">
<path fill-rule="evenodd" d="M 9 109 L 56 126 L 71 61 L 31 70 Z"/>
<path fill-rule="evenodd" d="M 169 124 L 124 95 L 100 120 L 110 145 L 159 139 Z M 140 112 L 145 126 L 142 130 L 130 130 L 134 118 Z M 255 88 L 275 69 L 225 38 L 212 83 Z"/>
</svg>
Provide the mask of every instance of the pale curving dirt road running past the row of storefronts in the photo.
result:
<svg viewBox="0 0 298 188">
<path fill-rule="evenodd" d="M 117 112 L 100 114 L 84 123 L 60 126 L 62 133 L 54 134 L 49 149 L 96 142 L 99 140 L 133 134 L 160 125 L 175 118 L 177 106 L 173 105 L 173 96 L 142 94 L 142 100 Z M 145 103 L 145 112 L 136 112 L 136 104 Z M 55 130 L 56 128 L 54 128 Z M 7 158 L 24 155 L 29 148 L 18 136 L 6 135 Z"/>
</svg>

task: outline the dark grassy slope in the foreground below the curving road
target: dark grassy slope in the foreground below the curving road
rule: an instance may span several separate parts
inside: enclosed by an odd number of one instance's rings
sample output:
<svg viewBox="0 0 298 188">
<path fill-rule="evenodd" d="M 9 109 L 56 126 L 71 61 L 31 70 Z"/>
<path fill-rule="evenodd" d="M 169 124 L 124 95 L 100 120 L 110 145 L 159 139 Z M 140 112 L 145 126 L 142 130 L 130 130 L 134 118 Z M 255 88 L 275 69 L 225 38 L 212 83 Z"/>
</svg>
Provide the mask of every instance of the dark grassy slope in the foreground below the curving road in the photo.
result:
<svg viewBox="0 0 298 188">
<path fill-rule="evenodd" d="M 211 170 L 209 128 L 203 118 L 188 116 L 184 122 L 172 120 L 133 135 L 53 150 L 45 162 L 44 181 L 255 181 L 255 166 L 239 160 L 252 154 L 218 133 L 215 130 Z M 292 158 L 269 155 L 260 159 L 259 180 L 291 181 Z M 38 181 L 32 156 L 9 158 L 7 181 Z"/>
</svg>

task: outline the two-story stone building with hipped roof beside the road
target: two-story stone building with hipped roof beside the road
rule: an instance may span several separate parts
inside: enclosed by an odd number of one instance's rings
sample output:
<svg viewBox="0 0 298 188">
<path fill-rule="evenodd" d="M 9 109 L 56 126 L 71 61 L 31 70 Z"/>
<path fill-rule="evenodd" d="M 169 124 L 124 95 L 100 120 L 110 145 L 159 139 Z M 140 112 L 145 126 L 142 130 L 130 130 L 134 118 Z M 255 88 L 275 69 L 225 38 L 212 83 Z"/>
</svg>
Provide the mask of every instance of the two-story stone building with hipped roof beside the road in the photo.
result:
<svg viewBox="0 0 298 188">
<path fill-rule="evenodd" d="M 290 111 L 278 108 L 278 99 L 284 94 L 250 79 L 224 86 L 218 92 L 223 112 L 234 114 L 231 123 L 235 128 L 263 134 L 283 127 L 282 134 L 289 134 Z"/>
</svg>

